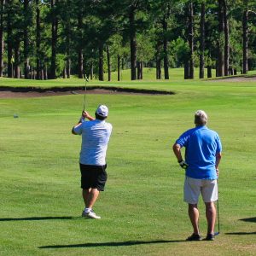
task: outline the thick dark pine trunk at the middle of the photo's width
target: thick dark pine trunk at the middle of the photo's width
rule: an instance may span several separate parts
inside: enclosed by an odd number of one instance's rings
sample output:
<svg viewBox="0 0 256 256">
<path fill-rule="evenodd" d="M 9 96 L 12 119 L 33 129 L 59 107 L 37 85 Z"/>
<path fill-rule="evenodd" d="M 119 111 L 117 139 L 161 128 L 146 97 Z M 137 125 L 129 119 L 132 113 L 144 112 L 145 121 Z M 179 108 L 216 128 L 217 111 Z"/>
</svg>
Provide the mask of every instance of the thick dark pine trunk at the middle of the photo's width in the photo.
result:
<svg viewBox="0 0 256 256">
<path fill-rule="evenodd" d="M 137 64 L 137 42 L 135 28 L 135 7 L 131 4 L 130 14 L 130 45 L 131 45 L 131 80 L 136 80 L 136 64 Z"/>
</svg>

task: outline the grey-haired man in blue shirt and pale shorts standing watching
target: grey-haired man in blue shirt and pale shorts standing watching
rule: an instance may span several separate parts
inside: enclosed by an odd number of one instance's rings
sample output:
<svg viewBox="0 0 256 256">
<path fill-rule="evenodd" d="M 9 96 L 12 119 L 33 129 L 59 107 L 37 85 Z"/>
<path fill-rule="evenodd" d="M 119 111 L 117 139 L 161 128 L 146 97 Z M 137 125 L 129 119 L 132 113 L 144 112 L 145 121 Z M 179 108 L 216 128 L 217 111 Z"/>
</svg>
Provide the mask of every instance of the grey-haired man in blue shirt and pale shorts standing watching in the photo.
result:
<svg viewBox="0 0 256 256">
<path fill-rule="evenodd" d="M 185 148 L 183 160 L 181 148 Z M 195 112 L 195 128 L 185 131 L 174 143 L 173 152 L 179 165 L 186 170 L 184 182 L 184 201 L 189 204 L 189 218 L 193 234 L 187 241 L 200 241 L 199 210 L 197 207 L 201 194 L 206 205 L 207 237 L 214 240 L 216 208 L 218 200 L 218 164 L 221 159 L 222 145 L 218 133 L 207 128 L 207 113 Z"/>
</svg>

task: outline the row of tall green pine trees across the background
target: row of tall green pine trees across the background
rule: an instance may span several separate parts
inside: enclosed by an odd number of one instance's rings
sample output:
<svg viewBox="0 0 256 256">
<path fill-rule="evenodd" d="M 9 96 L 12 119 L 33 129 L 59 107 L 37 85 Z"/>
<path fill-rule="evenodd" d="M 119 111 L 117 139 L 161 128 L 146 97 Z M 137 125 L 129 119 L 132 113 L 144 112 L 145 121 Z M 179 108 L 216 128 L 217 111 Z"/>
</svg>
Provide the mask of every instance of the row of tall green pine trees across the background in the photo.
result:
<svg viewBox="0 0 256 256">
<path fill-rule="evenodd" d="M 255 0 L 0 0 L 0 76 L 104 79 L 155 67 L 169 79 L 256 67 Z M 164 74 L 162 74 L 162 70 Z"/>
</svg>

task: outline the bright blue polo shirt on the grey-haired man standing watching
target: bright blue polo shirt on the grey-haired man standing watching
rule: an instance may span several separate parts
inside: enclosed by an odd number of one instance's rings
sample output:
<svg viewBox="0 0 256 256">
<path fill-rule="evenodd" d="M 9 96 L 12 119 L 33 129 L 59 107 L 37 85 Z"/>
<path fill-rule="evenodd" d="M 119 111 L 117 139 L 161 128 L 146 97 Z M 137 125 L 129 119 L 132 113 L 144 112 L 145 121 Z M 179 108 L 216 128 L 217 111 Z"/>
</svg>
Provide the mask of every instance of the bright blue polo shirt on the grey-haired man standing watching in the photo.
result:
<svg viewBox="0 0 256 256">
<path fill-rule="evenodd" d="M 186 176 L 198 179 L 217 179 L 216 154 L 222 145 L 218 133 L 207 126 L 196 126 L 185 131 L 176 141 L 185 147 L 185 161 L 188 163 Z"/>
</svg>

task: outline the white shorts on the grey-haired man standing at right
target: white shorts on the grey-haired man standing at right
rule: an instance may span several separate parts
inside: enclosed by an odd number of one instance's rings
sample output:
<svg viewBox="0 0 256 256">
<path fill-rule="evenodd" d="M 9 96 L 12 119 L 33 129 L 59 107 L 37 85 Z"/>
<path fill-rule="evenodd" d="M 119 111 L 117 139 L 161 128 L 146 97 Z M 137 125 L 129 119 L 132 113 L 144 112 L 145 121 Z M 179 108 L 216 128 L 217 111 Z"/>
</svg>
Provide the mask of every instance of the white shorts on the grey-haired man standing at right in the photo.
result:
<svg viewBox="0 0 256 256">
<path fill-rule="evenodd" d="M 217 179 L 197 179 L 185 177 L 184 201 L 189 204 L 197 204 L 201 193 L 204 202 L 218 200 Z"/>
</svg>

